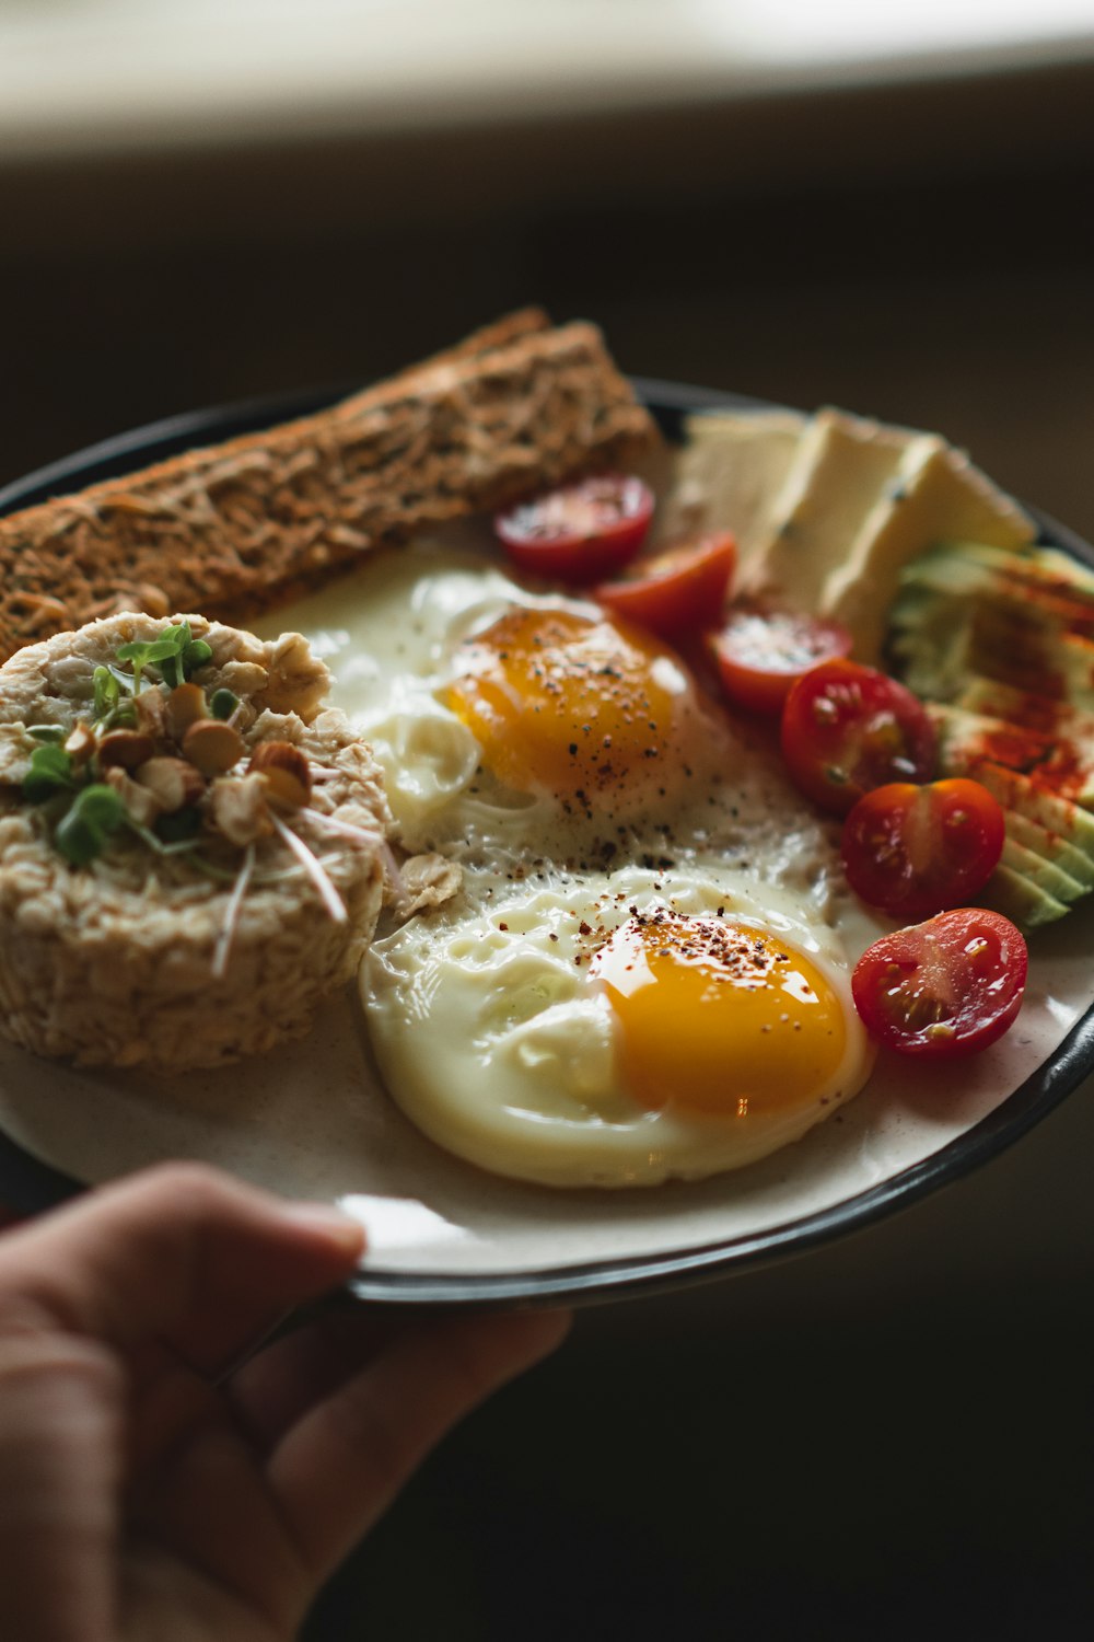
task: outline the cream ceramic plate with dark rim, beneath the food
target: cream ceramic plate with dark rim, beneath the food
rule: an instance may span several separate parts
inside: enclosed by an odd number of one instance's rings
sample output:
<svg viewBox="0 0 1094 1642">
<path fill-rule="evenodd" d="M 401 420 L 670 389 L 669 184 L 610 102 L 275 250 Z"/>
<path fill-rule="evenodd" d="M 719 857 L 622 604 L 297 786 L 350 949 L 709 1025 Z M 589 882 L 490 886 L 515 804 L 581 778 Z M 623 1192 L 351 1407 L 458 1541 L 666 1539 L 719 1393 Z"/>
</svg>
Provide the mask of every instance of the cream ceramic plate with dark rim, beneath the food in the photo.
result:
<svg viewBox="0 0 1094 1642">
<path fill-rule="evenodd" d="M 640 384 L 669 433 L 730 396 Z M 10 511 L 195 443 L 305 414 L 317 396 L 182 417 L 0 493 Z M 1045 521 L 1045 539 L 1089 548 Z M 338 1200 L 369 1228 L 354 1292 L 403 1302 L 595 1299 L 717 1274 L 861 1227 L 1017 1140 L 1094 1067 L 1089 915 L 1038 933 L 1012 1031 L 953 1072 L 886 1059 L 863 1094 L 748 1169 L 692 1184 L 559 1192 L 435 1148 L 376 1087 L 359 1011 L 308 1039 L 179 1082 L 79 1072 L 0 1046 L 0 1199 L 43 1207 L 164 1158 L 202 1158 L 274 1190 Z"/>
</svg>

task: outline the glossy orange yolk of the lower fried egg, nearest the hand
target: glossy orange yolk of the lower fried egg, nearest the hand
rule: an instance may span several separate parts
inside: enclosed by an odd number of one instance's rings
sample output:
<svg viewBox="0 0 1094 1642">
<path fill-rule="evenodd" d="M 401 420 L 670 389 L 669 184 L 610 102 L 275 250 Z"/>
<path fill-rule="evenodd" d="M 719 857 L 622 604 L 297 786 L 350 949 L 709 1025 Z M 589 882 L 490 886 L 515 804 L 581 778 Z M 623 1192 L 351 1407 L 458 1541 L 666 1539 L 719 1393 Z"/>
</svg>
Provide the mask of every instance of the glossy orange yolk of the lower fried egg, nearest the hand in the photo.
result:
<svg viewBox="0 0 1094 1642">
<path fill-rule="evenodd" d="M 832 1090 L 846 1044 L 840 998 L 781 938 L 722 918 L 636 915 L 589 974 L 620 1026 L 622 1072 L 650 1110 L 794 1112 Z"/>
</svg>

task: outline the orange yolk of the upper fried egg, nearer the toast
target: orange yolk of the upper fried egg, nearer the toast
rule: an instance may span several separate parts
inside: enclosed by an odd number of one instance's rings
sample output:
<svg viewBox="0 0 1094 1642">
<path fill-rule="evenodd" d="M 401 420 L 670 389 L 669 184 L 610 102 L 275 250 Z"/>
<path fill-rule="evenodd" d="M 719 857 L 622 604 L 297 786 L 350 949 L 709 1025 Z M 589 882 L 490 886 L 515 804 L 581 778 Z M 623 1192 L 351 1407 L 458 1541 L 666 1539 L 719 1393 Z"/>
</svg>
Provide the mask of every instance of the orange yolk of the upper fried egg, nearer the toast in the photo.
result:
<svg viewBox="0 0 1094 1642">
<path fill-rule="evenodd" d="M 676 655 L 641 629 L 515 608 L 461 647 L 459 665 L 446 704 L 508 787 L 554 793 L 590 813 L 605 793 L 664 783 L 679 703 L 692 685 Z"/>
</svg>

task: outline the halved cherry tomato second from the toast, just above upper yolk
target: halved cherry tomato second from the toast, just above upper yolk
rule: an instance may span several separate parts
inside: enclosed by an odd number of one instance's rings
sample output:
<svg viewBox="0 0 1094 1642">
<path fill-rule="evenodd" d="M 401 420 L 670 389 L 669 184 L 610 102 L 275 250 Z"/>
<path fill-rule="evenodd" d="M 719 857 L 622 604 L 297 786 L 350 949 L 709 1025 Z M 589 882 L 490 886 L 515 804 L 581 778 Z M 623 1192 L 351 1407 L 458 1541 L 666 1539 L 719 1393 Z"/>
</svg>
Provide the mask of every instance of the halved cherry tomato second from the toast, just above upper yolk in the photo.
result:
<svg viewBox="0 0 1094 1642">
<path fill-rule="evenodd" d="M 622 581 L 602 583 L 597 599 L 663 639 L 686 639 L 722 621 L 735 565 L 736 540 L 720 530 L 643 560 Z"/>
</svg>

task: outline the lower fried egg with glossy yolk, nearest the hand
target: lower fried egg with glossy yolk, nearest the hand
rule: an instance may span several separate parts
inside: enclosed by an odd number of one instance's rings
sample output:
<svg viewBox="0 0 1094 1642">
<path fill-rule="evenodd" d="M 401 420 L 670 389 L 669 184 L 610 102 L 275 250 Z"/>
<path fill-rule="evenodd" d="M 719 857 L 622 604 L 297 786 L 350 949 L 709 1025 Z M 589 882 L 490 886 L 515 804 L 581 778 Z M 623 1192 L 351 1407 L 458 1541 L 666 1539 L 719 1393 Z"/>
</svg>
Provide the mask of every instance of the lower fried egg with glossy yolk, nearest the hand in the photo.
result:
<svg viewBox="0 0 1094 1642">
<path fill-rule="evenodd" d="M 472 908 L 469 901 L 477 905 Z M 530 888 L 479 877 L 361 970 L 381 1076 L 461 1158 L 546 1186 L 753 1163 L 861 1089 L 838 936 L 717 865 Z"/>
</svg>

